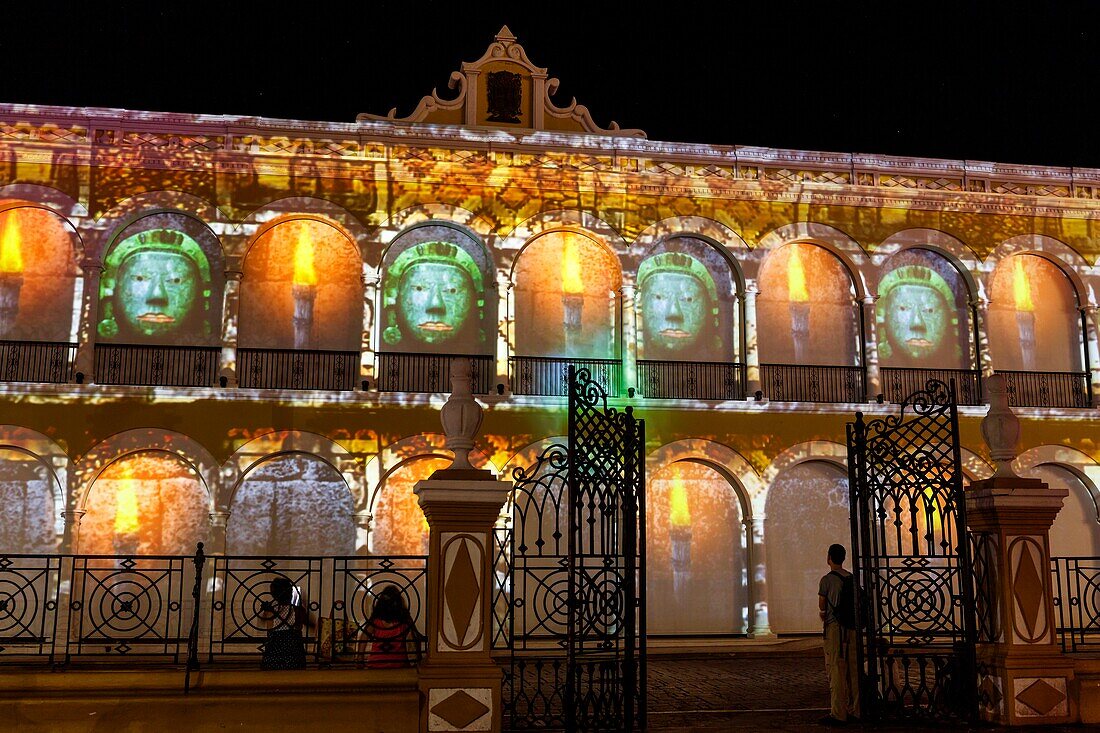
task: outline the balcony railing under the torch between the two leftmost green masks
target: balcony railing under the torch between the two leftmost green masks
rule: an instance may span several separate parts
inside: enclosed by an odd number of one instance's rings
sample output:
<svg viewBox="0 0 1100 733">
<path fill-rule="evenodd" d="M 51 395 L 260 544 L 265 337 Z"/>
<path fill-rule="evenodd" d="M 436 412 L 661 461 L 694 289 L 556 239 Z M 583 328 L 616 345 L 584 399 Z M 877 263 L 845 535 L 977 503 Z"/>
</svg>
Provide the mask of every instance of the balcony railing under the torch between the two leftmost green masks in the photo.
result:
<svg viewBox="0 0 1100 733">
<path fill-rule="evenodd" d="M 238 349 L 237 384 L 252 390 L 354 390 L 359 352 Z"/>
</svg>

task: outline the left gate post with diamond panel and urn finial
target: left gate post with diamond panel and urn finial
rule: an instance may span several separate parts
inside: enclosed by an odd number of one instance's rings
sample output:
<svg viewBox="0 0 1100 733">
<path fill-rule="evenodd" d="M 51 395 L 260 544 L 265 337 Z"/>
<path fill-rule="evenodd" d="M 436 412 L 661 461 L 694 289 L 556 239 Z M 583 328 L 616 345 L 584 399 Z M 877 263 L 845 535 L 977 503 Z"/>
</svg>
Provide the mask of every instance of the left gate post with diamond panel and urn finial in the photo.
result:
<svg viewBox="0 0 1100 733">
<path fill-rule="evenodd" d="M 493 527 L 512 489 L 470 463 L 482 422 L 470 360 L 451 364 L 443 405 L 449 468 L 419 481 L 415 492 L 429 527 L 427 654 L 420 665 L 420 731 L 501 731 L 502 671 L 493 636 Z"/>
</svg>

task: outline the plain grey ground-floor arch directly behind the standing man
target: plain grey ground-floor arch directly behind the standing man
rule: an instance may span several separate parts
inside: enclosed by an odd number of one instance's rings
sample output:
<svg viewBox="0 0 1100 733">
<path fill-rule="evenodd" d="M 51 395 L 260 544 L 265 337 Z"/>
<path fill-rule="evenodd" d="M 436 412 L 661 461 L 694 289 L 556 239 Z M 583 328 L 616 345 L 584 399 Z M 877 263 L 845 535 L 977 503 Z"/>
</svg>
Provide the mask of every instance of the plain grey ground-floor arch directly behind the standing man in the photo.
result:
<svg viewBox="0 0 1100 733">
<path fill-rule="evenodd" d="M 825 554 L 849 549 L 848 477 L 835 463 L 804 461 L 781 471 L 768 492 L 768 622 L 776 633 L 821 633 L 817 583 Z M 849 564 L 850 568 L 851 565 Z"/>
</svg>

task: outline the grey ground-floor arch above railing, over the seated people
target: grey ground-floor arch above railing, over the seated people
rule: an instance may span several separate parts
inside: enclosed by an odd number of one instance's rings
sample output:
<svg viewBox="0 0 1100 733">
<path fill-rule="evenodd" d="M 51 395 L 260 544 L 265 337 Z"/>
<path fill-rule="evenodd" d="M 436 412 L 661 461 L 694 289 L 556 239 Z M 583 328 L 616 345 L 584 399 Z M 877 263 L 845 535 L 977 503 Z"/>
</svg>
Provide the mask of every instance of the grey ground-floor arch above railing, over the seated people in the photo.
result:
<svg viewBox="0 0 1100 733">
<path fill-rule="evenodd" d="M 229 507 L 230 555 L 353 555 L 352 494 L 327 461 L 293 452 L 268 458 L 241 480 Z"/>
</svg>

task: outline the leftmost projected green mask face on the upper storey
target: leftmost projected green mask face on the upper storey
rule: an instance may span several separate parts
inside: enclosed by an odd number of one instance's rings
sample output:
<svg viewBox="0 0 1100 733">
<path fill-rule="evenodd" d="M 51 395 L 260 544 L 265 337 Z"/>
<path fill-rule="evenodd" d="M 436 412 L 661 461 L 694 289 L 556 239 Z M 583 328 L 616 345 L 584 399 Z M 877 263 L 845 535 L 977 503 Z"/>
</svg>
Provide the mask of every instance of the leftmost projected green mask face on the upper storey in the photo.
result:
<svg viewBox="0 0 1100 733">
<path fill-rule="evenodd" d="M 198 289 L 198 274 L 185 255 L 138 252 L 119 267 L 118 318 L 142 336 L 173 333 L 187 321 Z"/>
</svg>

